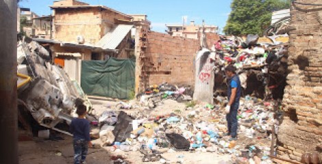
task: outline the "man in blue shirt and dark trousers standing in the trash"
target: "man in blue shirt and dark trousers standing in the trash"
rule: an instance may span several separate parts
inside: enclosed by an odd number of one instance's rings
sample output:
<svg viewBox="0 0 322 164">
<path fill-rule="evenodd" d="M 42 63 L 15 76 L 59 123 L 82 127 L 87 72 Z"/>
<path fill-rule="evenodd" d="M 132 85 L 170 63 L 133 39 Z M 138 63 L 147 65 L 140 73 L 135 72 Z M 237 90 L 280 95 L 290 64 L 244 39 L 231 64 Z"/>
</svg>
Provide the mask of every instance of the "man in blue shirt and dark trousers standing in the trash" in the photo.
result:
<svg viewBox="0 0 322 164">
<path fill-rule="evenodd" d="M 225 108 L 227 113 L 227 128 L 228 133 L 230 135 L 230 141 L 237 139 L 237 128 L 238 128 L 238 120 L 237 113 L 239 108 L 239 99 L 241 94 L 241 85 L 240 79 L 236 74 L 236 68 L 232 65 L 229 65 L 225 68 L 226 76 L 227 76 L 227 96 L 228 96 L 228 104 Z"/>
</svg>

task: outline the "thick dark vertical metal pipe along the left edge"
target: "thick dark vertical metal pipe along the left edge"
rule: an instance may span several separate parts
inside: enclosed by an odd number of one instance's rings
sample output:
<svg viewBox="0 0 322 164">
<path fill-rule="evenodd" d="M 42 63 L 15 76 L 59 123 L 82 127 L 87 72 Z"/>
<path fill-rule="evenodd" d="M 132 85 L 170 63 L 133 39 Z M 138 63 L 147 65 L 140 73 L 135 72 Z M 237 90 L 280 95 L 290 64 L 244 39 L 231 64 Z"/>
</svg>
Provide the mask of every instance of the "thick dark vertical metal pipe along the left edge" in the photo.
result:
<svg viewBox="0 0 322 164">
<path fill-rule="evenodd" d="M 0 163 L 18 163 L 17 1 L 0 1 Z"/>
</svg>

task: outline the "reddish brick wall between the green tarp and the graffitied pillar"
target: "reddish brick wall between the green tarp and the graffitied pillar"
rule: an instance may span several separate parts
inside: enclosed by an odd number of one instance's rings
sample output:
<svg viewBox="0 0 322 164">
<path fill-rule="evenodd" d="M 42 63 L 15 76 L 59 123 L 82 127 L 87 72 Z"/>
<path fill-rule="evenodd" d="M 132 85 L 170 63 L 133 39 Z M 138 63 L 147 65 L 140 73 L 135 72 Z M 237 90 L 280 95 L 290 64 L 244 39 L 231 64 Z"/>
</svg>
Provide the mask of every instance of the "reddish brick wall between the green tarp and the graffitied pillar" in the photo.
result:
<svg viewBox="0 0 322 164">
<path fill-rule="evenodd" d="M 173 37 L 143 29 L 139 34 L 139 57 L 136 66 L 140 68 L 139 90 L 149 85 L 164 82 L 173 85 L 195 85 L 195 55 L 199 51 L 199 40 Z M 217 36 L 218 37 L 218 36 Z M 214 36 L 208 38 L 214 42 Z M 138 52 L 136 52 L 138 53 Z"/>
</svg>

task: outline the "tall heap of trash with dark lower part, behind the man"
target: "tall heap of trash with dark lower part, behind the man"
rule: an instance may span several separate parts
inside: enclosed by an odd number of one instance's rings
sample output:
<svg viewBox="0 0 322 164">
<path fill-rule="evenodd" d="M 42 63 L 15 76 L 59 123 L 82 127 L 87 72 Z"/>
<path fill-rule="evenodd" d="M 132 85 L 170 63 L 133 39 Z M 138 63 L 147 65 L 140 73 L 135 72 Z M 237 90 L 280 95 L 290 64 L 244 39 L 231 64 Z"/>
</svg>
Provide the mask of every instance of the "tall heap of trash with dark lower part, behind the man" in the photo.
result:
<svg viewBox="0 0 322 164">
<path fill-rule="evenodd" d="M 214 62 L 214 92 L 225 90 L 224 70 L 232 64 L 237 68 L 247 92 L 245 95 L 282 99 L 287 76 L 288 44 L 258 43 L 258 39 L 258 35 L 248 35 L 246 40 L 232 36 L 222 37 L 214 43 L 210 51 L 210 59 Z M 259 94 L 253 93 L 254 88 Z"/>
</svg>

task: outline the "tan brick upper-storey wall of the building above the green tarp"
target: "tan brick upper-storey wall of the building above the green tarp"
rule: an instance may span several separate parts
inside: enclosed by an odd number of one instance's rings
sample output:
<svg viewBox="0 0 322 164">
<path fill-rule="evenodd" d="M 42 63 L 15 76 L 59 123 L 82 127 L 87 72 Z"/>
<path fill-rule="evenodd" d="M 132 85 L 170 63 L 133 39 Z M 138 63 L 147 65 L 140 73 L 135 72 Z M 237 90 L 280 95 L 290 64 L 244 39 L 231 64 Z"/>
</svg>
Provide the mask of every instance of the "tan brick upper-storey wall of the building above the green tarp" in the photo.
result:
<svg viewBox="0 0 322 164">
<path fill-rule="evenodd" d="M 103 8 L 55 9 L 55 40 L 77 42 L 77 36 L 83 36 L 86 43 L 95 44 L 114 27 L 116 19 L 131 20 Z"/>
</svg>

